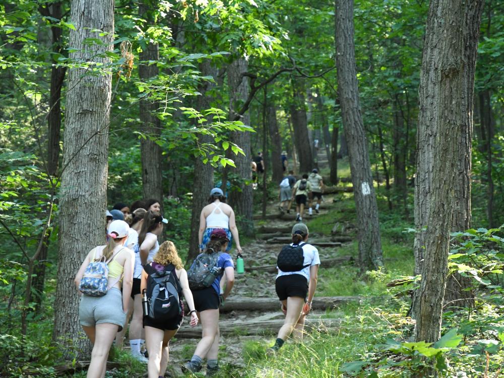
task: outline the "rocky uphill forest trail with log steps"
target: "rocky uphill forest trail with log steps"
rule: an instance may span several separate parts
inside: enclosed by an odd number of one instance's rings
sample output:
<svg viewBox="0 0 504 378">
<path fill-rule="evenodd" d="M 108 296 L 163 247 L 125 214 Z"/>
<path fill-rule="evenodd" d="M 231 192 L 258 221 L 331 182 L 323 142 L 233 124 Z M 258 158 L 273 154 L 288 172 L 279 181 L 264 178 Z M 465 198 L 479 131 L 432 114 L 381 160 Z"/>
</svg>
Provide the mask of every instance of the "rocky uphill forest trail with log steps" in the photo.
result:
<svg viewBox="0 0 504 378">
<path fill-rule="evenodd" d="M 322 154 L 320 158 L 323 158 Z M 325 162 L 319 160 L 319 166 L 321 165 L 327 165 L 327 160 Z M 308 242 L 319 250 L 321 270 L 336 265 L 353 264 L 353 257 L 342 256 L 339 252 L 341 245 L 352 241 L 352 238 L 344 233 L 344 226 L 333 227 L 330 235 L 317 233 L 317 230 L 310 228 L 313 219 L 327 215 L 334 206 L 333 199 L 336 197 L 334 193 L 337 191 L 324 195 L 320 214 L 313 212 L 313 217 L 306 214 L 304 218 L 310 229 Z M 291 210 L 290 214 L 280 214 L 277 205 L 277 202 L 269 204 L 266 217 L 262 217 L 261 214 L 254 216 L 258 238 L 243 246 L 245 273 L 235 275 L 231 295 L 221 308 L 219 322 L 221 366 L 231 364 L 244 367 L 243 344 L 248 340 L 260 340 L 270 346 L 283 324 L 284 314 L 280 310 L 280 302 L 275 292 L 276 259 L 282 246 L 290 242 L 289 235 L 296 223 L 296 213 L 293 206 L 294 211 Z M 327 222 L 338 225 L 337 219 L 332 217 Z M 236 260 L 234 248 L 231 255 Z M 323 282 L 319 280 L 319 287 L 321 285 Z M 306 331 L 315 328 L 322 332 L 337 332 L 340 320 L 328 318 L 326 309 L 334 309 L 358 300 L 360 297 L 321 297 L 316 293 L 313 309 L 306 317 Z M 191 357 L 190 354 L 201 338 L 201 327 L 198 325 L 191 328 L 187 323 L 184 319 L 184 325 L 177 333 L 176 340 L 170 343 L 169 366 L 173 367 L 172 373 L 175 375 L 180 373 L 178 366 Z"/>
</svg>

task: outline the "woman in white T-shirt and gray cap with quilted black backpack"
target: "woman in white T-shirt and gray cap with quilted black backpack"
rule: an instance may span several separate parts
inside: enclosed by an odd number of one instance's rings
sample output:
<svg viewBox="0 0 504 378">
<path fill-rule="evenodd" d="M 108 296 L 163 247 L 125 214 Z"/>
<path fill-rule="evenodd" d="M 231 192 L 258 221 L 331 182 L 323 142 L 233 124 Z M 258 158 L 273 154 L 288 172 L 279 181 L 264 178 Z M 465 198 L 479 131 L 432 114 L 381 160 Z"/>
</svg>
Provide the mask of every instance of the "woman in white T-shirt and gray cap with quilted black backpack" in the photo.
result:
<svg viewBox="0 0 504 378">
<path fill-rule="evenodd" d="M 320 266 L 319 251 L 307 240 L 308 227 L 304 223 L 295 224 L 292 227 L 292 243 L 284 246 L 278 255 L 275 290 L 285 321 L 275 345 L 267 350 L 268 354 L 275 354 L 291 334 L 295 341 L 303 339 L 304 319 L 311 310 Z M 294 264 L 292 257 L 296 254 L 299 254 L 300 260 Z"/>
</svg>

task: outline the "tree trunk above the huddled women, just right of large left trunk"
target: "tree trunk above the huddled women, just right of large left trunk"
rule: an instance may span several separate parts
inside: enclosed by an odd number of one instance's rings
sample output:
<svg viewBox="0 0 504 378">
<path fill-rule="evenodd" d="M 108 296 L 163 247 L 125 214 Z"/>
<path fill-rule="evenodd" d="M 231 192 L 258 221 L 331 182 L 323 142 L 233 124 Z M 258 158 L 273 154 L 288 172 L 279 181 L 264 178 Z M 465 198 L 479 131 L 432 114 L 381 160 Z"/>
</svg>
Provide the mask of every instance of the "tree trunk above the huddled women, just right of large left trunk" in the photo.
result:
<svg viewBox="0 0 504 378">
<path fill-rule="evenodd" d="M 152 23 L 149 17 L 149 8 L 141 4 L 139 7 L 140 15 L 146 18 L 147 22 Z M 140 60 L 158 61 L 159 46 L 157 43 L 145 41 L 146 46 L 142 47 Z M 140 64 L 138 66 L 140 80 L 148 82 L 159 74 L 156 64 Z M 161 168 L 161 147 L 156 143 L 156 139 L 161 135 L 161 123 L 156 117 L 156 111 L 159 108 L 159 102 L 143 98 L 140 100 L 140 123 L 142 131 L 148 134 L 147 139 L 141 139 L 140 148 L 142 150 L 142 182 L 144 198 L 154 198 L 160 201 L 163 206 L 163 172 Z M 150 138 L 149 138 L 150 137 Z"/>
</svg>

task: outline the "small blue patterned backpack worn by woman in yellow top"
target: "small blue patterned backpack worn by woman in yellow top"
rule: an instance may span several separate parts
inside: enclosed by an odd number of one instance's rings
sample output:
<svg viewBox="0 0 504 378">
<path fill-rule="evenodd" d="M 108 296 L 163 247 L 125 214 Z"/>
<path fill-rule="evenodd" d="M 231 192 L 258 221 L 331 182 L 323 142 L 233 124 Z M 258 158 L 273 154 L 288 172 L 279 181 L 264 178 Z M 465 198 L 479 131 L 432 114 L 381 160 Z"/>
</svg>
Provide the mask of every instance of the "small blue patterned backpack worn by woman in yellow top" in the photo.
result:
<svg viewBox="0 0 504 378">
<path fill-rule="evenodd" d="M 79 284 L 79 290 L 85 294 L 92 297 L 101 297 L 105 295 L 112 286 L 114 286 L 122 277 L 122 274 L 117 278 L 117 280 L 108 285 L 108 263 L 117 255 L 122 249 L 119 249 L 115 254 L 113 254 L 110 259 L 105 261 L 105 256 L 96 257 L 94 261 L 89 263 L 82 276 L 81 283 Z M 96 255 L 95 255 L 96 256 Z"/>
</svg>

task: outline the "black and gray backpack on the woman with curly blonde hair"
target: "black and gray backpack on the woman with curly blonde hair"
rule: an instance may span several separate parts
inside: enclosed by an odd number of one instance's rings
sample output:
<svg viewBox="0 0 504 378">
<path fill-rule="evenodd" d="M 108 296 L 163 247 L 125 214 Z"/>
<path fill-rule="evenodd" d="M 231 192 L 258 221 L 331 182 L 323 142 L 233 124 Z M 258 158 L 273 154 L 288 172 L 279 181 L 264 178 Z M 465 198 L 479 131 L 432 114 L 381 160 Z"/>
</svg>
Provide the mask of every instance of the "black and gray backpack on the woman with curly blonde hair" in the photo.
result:
<svg viewBox="0 0 504 378">
<path fill-rule="evenodd" d="M 180 298 L 182 287 L 178 281 L 173 264 L 157 271 L 151 265 L 144 267 L 147 277 L 147 313 L 155 321 L 169 321 L 183 317 L 183 304 Z"/>
</svg>

